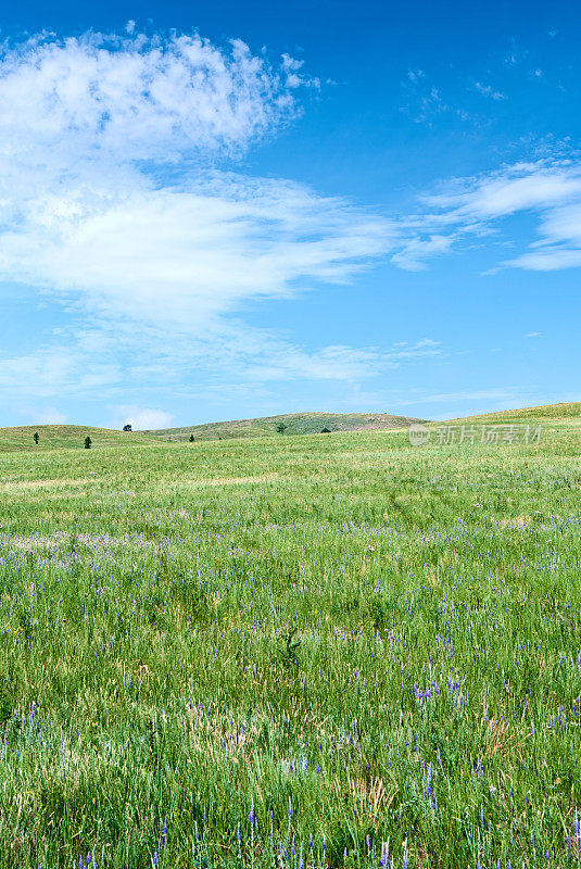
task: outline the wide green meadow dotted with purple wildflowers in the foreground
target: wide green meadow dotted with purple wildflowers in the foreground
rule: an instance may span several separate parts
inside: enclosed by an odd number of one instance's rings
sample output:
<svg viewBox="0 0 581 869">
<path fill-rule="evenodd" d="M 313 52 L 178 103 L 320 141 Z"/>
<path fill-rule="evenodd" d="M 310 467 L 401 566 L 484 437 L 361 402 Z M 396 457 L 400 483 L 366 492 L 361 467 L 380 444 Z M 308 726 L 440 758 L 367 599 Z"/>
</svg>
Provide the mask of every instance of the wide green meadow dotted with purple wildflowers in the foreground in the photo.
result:
<svg viewBox="0 0 581 869">
<path fill-rule="evenodd" d="M 2 453 L 2 869 L 579 866 L 580 452 Z"/>
</svg>

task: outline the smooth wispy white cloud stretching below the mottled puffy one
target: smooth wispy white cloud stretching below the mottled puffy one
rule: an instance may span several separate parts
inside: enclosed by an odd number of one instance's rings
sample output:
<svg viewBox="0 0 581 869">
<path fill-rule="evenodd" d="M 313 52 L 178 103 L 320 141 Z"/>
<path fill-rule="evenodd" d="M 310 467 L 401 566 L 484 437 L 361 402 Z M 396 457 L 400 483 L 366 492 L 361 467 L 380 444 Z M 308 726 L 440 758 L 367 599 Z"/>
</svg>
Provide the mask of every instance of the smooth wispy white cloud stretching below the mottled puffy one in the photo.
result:
<svg viewBox="0 0 581 869">
<path fill-rule="evenodd" d="M 35 199 L 17 231 L 0 235 L 0 275 L 110 316 L 191 330 L 299 281 L 343 281 L 392 243 L 388 222 L 341 200 L 214 174 L 122 198 L 86 187 Z"/>
</svg>

